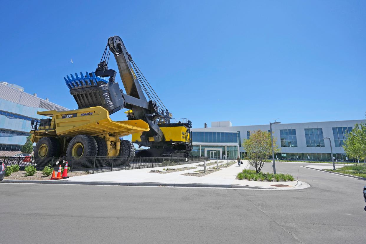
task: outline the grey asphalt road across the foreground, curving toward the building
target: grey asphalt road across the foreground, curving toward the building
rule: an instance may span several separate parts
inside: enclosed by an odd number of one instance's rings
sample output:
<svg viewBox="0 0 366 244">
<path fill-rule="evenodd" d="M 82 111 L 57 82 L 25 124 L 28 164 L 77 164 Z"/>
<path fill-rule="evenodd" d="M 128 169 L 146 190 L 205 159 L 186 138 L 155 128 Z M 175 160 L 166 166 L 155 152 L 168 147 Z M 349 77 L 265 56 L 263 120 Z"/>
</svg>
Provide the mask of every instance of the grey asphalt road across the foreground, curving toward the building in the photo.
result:
<svg viewBox="0 0 366 244">
<path fill-rule="evenodd" d="M 301 165 L 287 191 L 0 184 L 0 243 L 365 243 L 366 181 Z"/>
</svg>

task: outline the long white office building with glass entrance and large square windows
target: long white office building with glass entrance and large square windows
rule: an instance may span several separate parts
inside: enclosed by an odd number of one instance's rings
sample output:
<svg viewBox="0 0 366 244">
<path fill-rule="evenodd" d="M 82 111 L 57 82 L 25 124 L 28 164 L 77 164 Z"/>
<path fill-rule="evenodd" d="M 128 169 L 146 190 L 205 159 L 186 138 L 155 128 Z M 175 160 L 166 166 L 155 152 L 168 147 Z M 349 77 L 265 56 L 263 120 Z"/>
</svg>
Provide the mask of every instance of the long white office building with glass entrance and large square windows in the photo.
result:
<svg viewBox="0 0 366 244">
<path fill-rule="evenodd" d="M 333 157 L 337 161 L 354 161 L 347 157 L 342 146 L 354 125 L 362 122 L 366 120 L 274 124 L 273 137 L 280 150 L 275 157 L 283 160 L 332 161 L 329 140 L 324 140 L 328 137 L 332 142 Z M 192 155 L 235 158 L 239 154 L 243 158 L 246 152 L 242 142 L 256 130 L 269 132 L 269 124 L 232 126 L 230 121 L 220 121 L 212 122 L 208 128 L 191 130 Z"/>
</svg>

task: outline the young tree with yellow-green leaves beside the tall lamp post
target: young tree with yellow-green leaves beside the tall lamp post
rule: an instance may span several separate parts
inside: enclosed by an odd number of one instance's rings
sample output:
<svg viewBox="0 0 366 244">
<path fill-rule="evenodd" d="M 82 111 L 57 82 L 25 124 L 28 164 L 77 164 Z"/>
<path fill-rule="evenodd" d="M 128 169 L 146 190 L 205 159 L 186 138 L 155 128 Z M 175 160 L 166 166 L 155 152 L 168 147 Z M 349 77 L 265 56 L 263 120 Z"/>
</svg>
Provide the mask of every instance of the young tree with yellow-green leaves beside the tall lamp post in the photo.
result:
<svg viewBox="0 0 366 244">
<path fill-rule="evenodd" d="M 277 139 L 273 138 L 273 149 L 278 151 Z M 271 134 L 266 131 L 254 131 L 250 138 L 243 142 L 243 147 L 247 152 L 249 164 L 255 168 L 257 173 L 261 172 L 265 160 L 272 155 Z"/>
</svg>

